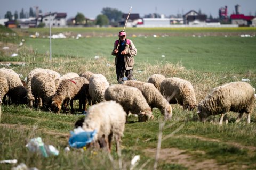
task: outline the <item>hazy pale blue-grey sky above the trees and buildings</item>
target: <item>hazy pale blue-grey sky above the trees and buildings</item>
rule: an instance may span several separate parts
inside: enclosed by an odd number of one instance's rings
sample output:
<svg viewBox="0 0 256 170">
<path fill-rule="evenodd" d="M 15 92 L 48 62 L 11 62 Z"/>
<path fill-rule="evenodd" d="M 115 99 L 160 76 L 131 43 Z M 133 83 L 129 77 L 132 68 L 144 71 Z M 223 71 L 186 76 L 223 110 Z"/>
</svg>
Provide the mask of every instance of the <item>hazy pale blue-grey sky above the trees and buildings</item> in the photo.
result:
<svg viewBox="0 0 256 170">
<path fill-rule="evenodd" d="M 23 8 L 29 12 L 29 8 L 38 6 L 43 14 L 51 12 L 66 12 L 67 18 L 74 17 L 81 12 L 87 18 L 96 18 L 101 14 L 102 8 L 116 8 L 123 13 L 128 13 L 132 6 L 131 13 L 139 13 L 140 17 L 149 13 L 169 15 L 185 14 L 190 10 L 201 10 L 206 15 L 218 16 L 220 7 L 228 6 L 228 15 L 235 11 L 235 5 L 240 5 L 240 13 L 255 15 L 256 0 L 0 0 L 0 18 L 4 18 L 7 11 L 14 14 L 15 10 L 20 13 Z"/>
</svg>

